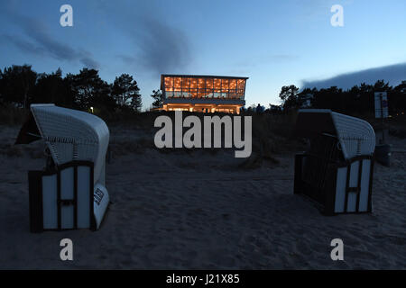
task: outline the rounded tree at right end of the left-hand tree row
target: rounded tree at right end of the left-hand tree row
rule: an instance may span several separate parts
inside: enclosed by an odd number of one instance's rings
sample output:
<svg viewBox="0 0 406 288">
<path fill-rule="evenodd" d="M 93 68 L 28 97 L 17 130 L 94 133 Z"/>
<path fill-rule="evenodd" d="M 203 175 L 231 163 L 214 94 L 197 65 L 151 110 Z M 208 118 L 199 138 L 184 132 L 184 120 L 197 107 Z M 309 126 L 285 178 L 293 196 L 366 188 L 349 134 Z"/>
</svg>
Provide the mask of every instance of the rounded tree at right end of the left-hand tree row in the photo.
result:
<svg viewBox="0 0 406 288">
<path fill-rule="evenodd" d="M 115 77 L 112 86 L 112 96 L 115 103 L 121 108 L 130 108 L 135 112 L 140 112 L 142 107 L 140 88 L 133 76 L 122 74 Z"/>
</svg>

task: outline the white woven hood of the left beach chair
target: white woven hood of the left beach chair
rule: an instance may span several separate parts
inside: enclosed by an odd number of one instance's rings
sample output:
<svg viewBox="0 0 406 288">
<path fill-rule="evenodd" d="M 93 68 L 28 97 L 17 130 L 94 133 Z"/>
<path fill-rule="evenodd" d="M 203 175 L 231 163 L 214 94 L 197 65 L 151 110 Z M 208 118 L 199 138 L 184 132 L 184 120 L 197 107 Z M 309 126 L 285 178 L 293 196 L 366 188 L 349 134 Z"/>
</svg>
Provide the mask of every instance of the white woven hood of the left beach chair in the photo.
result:
<svg viewBox="0 0 406 288">
<path fill-rule="evenodd" d="M 88 112 L 54 104 L 32 104 L 31 112 L 31 119 L 24 124 L 16 143 L 44 139 L 58 166 L 72 160 L 91 161 L 95 165 L 94 183 L 104 176 L 102 170 L 109 141 L 105 121 Z"/>
</svg>

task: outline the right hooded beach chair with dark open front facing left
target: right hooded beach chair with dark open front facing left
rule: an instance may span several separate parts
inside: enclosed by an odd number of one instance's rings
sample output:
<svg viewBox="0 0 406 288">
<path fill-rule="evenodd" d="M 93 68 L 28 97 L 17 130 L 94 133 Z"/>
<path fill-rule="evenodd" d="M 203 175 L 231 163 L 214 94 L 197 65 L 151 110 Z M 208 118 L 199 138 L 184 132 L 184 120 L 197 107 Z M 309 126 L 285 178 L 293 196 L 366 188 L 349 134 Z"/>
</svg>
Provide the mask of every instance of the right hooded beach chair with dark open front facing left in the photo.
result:
<svg viewBox="0 0 406 288">
<path fill-rule="evenodd" d="M 324 109 L 299 111 L 297 133 L 309 139 L 295 158 L 295 193 L 323 213 L 372 211 L 374 129 L 367 121 Z"/>
</svg>

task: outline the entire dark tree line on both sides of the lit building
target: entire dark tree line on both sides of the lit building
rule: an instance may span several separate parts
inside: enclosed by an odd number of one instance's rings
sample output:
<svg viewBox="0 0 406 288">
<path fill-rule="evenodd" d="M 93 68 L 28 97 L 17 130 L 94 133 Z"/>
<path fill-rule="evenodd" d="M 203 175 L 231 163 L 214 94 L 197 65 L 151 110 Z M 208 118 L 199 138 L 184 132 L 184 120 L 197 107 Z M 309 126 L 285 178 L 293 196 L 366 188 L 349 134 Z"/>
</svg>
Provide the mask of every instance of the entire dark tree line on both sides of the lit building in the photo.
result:
<svg viewBox="0 0 406 288">
<path fill-rule="evenodd" d="M 343 90 L 329 88 L 306 88 L 300 91 L 295 85 L 281 87 L 281 105 L 270 104 L 267 112 L 289 112 L 299 108 L 325 108 L 348 114 L 374 112 L 374 92 L 385 91 L 388 94 L 389 112 L 405 112 L 406 81 L 390 86 L 383 80 L 374 85 L 355 85 Z M 152 107 L 162 104 L 160 90 L 152 91 Z M 0 105 L 13 105 L 27 108 L 31 103 L 55 103 L 57 105 L 97 112 L 141 112 L 142 98 L 140 89 L 133 76 L 122 74 L 108 84 L 101 79 L 95 69 L 83 68 L 78 74 L 62 77 L 61 69 L 51 74 L 37 73 L 29 65 L 5 67 L 0 69 Z M 264 107 L 258 104 L 261 110 Z M 258 110 L 255 106 L 247 111 Z"/>
</svg>

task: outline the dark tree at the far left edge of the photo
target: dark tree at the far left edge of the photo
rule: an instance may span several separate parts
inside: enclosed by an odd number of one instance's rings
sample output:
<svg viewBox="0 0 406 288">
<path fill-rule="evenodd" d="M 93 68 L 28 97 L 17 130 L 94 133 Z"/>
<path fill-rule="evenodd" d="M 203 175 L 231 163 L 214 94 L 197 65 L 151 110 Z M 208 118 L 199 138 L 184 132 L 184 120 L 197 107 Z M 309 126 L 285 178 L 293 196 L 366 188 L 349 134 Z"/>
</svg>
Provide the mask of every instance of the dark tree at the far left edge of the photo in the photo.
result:
<svg viewBox="0 0 406 288">
<path fill-rule="evenodd" d="M 37 73 L 29 65 L 5 67 L 0 81 L 3 101 L 27 107 L 36 80 Z"/>
</svg>

